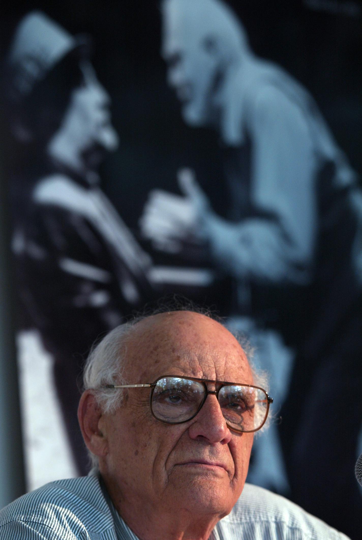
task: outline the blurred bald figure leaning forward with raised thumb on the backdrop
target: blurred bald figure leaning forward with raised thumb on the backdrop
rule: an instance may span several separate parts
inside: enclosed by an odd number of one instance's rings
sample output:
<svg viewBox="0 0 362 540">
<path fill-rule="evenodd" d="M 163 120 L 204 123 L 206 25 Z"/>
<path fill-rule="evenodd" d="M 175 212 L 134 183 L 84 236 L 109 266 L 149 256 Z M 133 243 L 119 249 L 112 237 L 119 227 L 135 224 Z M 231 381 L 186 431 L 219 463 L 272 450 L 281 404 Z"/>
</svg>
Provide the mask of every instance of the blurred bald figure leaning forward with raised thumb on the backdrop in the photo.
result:
<svg viewBox="0 0 362 540">
<path fill-rule="evenodd" d="M 164 0 L 162 16 L 167 83 L 187 125 L 217 130 L 229 207 L 226 218 L 214 212 L 195 173 L 180 170 L 182 196 L 150 193 L 144 237 L 185 259 L 197 249 L 233 281 L 229 325 L 249 335 L 276 381 L 276 407 L 285 402 L 282 440 L 274 426 L 274 442 L 257 450 L 279 458 L 252 480 L 353 537 L 362 511 L 350 474 L 362 416 L 357 175 L 310 94 L 254 55 L 226 3 Z"/>
</svg>

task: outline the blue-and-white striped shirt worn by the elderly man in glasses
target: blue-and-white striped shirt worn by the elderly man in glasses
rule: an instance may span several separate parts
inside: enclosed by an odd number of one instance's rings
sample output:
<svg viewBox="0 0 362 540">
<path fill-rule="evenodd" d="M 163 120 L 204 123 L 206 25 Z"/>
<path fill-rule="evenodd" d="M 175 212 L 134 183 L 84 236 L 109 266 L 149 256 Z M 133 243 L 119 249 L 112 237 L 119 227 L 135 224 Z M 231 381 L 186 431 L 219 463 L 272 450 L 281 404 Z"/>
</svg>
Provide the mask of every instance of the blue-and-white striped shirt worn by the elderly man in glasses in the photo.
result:
<svg viewBox="0 0 362 540">
<path fill-rule="evenodd" d="M 348 540 L 284 497 L 245 484 L 213 540 Z M 211 537 L 210 537 L 211 538 Z M 139 540 L 95 475 L 59 480 L 0 511 L 0 540 Z"/>
</svg>

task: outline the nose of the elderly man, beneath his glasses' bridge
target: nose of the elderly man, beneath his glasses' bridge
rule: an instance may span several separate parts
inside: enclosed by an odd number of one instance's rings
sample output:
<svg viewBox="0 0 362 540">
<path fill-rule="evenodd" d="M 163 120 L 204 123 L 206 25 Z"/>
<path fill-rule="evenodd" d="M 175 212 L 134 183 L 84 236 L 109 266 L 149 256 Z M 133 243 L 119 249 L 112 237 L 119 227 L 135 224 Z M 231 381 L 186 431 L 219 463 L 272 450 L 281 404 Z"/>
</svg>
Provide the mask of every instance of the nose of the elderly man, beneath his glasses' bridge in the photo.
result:
<svg viewBox="0 0 362 540">
<path fill-rule="evenodd" d="M 230 442 L 231 431 L 226 426 L 216 395 L 209 394 L 206 397 L 203 407 L 189 427 L 189 435 L 194 440 L 206 440 L 212 444 Z"/>
</svg>

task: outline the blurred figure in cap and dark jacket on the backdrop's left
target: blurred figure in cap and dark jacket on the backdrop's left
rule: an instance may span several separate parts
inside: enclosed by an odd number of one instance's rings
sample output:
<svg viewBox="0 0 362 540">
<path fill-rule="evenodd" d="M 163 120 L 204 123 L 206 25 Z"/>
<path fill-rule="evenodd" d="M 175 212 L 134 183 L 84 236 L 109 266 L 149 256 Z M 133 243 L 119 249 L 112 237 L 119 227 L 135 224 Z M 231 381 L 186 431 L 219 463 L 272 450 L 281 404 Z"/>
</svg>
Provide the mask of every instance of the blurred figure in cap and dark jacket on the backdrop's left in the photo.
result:
<svg viewBox="0 0 362 540">
<path fill-rule="evenodd" d="M 19 23 L 4 93 L 13 251 L 26 320 L 55 360 L 54 375 L 78 468 L 77 377 L 98 335 L 150 298 L 151 261 L 99 188 L 98 165 L 116 150 L 110 98 L 90 43 L 42 12 Z"/>
</svg>

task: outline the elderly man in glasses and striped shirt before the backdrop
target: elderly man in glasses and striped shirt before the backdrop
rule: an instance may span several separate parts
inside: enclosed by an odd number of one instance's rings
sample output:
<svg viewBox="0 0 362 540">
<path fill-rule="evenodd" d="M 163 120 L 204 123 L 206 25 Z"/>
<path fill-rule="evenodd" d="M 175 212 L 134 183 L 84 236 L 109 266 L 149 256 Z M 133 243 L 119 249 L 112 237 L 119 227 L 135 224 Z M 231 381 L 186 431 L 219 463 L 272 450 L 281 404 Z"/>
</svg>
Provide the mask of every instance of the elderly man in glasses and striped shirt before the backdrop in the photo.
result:
<svg viewBox="0 0 362 540">
<path fill-rule="evenodd" d="M 209 316 L 164 312 L 117 327 L 91 353 L 84 382 L 79 423 L 97 467 L 11 503 L 1 540 L 346 538 L 244 488 L 272 399 Z"/>
</svg>

